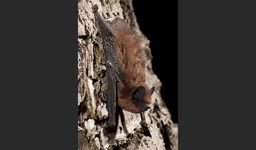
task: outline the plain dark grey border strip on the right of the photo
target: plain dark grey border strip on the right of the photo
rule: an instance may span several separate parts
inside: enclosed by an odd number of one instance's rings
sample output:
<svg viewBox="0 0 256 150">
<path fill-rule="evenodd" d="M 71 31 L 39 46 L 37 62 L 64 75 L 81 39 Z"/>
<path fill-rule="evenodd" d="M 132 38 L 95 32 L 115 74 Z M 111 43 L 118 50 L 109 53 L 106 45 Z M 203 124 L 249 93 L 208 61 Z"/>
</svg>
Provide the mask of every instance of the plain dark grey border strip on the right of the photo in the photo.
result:
<svg viewBox="0 0 256 150">
<path fill-rule="evenodd" d="M 255 149 L 255 2 L 179 4 L 180 149 Z"/>
</svg>

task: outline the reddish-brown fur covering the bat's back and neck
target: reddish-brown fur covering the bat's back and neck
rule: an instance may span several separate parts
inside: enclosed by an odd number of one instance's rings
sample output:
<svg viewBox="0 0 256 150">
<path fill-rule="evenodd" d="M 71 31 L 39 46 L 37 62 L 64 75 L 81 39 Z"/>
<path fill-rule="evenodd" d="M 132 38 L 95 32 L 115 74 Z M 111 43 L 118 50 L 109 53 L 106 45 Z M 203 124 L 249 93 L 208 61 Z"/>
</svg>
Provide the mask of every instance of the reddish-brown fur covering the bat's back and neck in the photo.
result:
<svg viewBox="0 0 256 150">
<path fill-rule="evenodd" d="M 118 104 L 122 109 L 132 113 L 141 113 L 143 110 L 132 102 L 132 91 L 144 85 L 146 94 L 143 101 L 151 103 L 150 89 L 145 85 L 145 61 L 140 49 L 139 42 L 129 25 L 120 18 L 116 18 L 111 23 L 111 28 L 115 37 L 115 47 L 119 58 L 121 74 L 124 84 L 118 83 L 117 95 Z"/>
</svg>

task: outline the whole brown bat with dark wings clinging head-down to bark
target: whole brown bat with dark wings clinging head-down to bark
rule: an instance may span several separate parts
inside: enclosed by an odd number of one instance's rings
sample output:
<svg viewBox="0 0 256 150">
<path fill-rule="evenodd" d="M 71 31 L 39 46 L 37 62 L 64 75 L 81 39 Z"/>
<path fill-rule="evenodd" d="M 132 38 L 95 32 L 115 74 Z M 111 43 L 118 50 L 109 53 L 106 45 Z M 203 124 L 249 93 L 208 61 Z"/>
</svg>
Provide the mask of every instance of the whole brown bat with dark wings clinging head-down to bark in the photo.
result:
<svg viewBox="0 0 256 150">
<path fill-rule="evenodd" d="M 124 110 L 140 113 L 145 124 L 144 111 L 150 109 L 154 87 L 145 84 L 145 61 L 139 42 L 130 26 L 121 18 L 106 22 L 93 10 L 100 26 L 107 74 L 108 127 L 115 127 L 117 104 Z M 117 90 L 117 92 L 116 92 Z"/>
</svg>

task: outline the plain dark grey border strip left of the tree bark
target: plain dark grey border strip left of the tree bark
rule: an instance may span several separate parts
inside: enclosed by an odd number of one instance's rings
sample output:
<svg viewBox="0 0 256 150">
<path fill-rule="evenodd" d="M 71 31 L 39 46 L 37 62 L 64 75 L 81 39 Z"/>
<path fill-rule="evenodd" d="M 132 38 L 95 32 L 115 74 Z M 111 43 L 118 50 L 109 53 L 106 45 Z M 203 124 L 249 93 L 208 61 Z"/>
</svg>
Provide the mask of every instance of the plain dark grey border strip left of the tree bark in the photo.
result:
<svg viewBox="0 0 256 150">
<path fill-rule="evenodd" d="M 77 149 L 77 1 L 1 6 L 1 149 Z"/>
</svg>

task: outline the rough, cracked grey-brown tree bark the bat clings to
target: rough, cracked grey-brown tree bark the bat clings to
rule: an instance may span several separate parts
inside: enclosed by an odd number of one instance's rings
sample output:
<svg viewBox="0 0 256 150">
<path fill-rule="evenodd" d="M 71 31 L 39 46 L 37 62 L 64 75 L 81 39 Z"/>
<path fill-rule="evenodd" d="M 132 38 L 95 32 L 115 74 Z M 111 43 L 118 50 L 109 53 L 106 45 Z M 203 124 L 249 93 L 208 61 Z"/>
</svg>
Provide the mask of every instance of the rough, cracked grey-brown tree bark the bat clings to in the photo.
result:
<svg viewBox="0 0 256 150">
<path fill-rule="evenodd" d="M 140 114 L 124 112 L 116 133 L 107 133 L 106 68 L 102 39 L 97 32 L 92 6 L 97 4 L 105 20 L 125 19 L 135 31 L 144 52 L 146 84 L 155 86 L 152 109 Z M 78 149 L 178 149 L 178 126 L 161 98 L 162 83 L 152 70 L 150 41 L 136 22 L 132 0 L 78 0 Z"/>
</svg>

